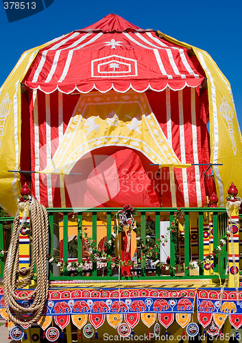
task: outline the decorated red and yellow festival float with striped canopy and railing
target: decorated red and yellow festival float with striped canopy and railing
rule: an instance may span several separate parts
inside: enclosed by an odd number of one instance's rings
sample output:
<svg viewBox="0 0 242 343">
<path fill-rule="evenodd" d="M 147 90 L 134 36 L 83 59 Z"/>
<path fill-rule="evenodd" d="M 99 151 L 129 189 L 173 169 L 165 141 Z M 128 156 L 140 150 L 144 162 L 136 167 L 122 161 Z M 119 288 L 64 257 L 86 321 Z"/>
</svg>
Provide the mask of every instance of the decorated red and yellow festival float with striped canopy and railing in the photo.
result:
<svg viewBox="0 0 242 343">
<path fill-rule="evenodd" d="M 235 337 L 241 132 L 206 51 L 109 14 L 26 51 L 0 111 L 10 339 Z"/>
</svg>

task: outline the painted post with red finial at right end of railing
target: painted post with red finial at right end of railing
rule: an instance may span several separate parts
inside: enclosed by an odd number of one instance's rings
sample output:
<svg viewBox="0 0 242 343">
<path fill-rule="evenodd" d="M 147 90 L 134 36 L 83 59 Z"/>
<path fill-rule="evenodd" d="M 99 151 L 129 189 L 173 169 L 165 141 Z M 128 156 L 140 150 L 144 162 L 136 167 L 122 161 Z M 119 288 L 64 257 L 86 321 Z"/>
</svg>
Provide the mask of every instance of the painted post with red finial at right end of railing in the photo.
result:
<svg viewBox="0 0 242 343">
<path fill-rule="evenodd" d="M 239 287 L 239 206 L 241 198 L 234 183 L 228 189 L 226 209 L 228 213 L 228 287 Z"/>
</svg>

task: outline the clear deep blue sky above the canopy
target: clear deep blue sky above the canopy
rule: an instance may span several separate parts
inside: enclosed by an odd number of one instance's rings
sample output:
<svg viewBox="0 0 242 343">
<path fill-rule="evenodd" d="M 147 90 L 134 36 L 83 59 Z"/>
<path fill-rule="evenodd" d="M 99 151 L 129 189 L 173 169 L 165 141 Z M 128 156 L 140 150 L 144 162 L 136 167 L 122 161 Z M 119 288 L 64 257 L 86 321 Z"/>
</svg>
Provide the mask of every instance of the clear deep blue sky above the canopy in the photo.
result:
<svg viewBox="0 0 242 343">
<path fill-rule="evenodd" d="M 8 23 L 1 2 L 0 84 L 23 51 L 114 13 L 143 29 L 159 29 L 206 50 L 232 86 L 242 128 L 241 12 L 239 0 L 55 0 L 43 12 Z"/>
</svg>

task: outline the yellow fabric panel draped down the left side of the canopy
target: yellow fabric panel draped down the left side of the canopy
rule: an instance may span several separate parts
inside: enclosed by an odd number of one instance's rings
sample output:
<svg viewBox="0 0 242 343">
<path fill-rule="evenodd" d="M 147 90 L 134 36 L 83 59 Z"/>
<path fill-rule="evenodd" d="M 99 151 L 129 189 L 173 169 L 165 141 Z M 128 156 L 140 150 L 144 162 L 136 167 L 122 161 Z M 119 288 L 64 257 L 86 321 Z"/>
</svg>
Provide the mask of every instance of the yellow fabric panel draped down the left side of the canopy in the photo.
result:
<svg viewBox="0 0 242 343">
<path fill-rule="evenodd" d="M 19 173 L 14 176 L 8 170 L 20 169 L 21 82 L 38 51 L 53 41 L 25 51 L 0 88 L 0 206 L 13 216 L 21 185 Z"/>
</svg>

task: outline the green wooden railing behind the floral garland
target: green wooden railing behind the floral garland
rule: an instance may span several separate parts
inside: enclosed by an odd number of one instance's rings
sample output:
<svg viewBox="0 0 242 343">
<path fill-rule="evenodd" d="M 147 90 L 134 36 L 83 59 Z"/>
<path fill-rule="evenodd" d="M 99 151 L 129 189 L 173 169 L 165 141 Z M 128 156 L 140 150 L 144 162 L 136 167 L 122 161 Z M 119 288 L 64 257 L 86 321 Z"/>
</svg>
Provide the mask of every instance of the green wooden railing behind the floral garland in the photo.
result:
<svg viewBox="0 0 242 343">
<path fill-rule="evenodd" d="M 59 223 L 63 226 L 63 254 L 62 261 L 68 262 L 68 244 L 69 244 L 69 227 L 73 225 L 71 222 L 72 214 L 75 213 L 75 218 L 78 219 L 76 224 L 76 236 L 77 236 L 77 261 L 82 262 L 82 225 L 86 215 L 89 215 L 90 226 L 92 226 L 92 237 L 97 241 L 97 219 L 105 217 L 106 222 L 106 237 L 110 237 L 113 232 L 112 215 L 119 211 L 119 208 L 101 208 L 101 209 L 47 209 L 49 213 L 49 255 L 56 256 L 60 259 L 60 228 Z M 214 259 L 214 274 L 205 275 L 204 266 L 199 268 L 199 275 L 189 275 L 189 263 L 191 261 L 191 244 L 190 244 L 190 218 L 191 213 L 197 213 L 197 237 L 198 237 L 198 257 L 199 260 L 204 260 L 204 216 L 208 213 L 213 213 L 213 242 L 217 247 L 221 237 L 226 235 L 227 227 L 227 213 L 224 208 L 186 208 L 184 211 L 184 263 L 182 263 L 182 272 L 170 271 L 169 275 L 162 275 L 160 267 L 150 268 L 145 261 L 141 261 L 138 268 L 133 269 L 134 276 L 130 276 L 128 279 L 163 279 L 163 280 L 175 280 L 175 279 L 218 279 L 217 273 L 221 279 L 227 279 L 226 266 L 227 266 L 227 246 L 223 246 L 219 255 Z M 138 208 L 138 221 L 141 223 L 141 238 L 145 241 L 146 233 L 146 218 L 147 215 L 152 215 L 155 222 L 154 235 L 157 239 L 160 239 L 160 220 L 164 217 L 170 218 L 173 221 L 173 214 L 176 209 L 173 208 Z M 0 250 L 7 250 L 9 244 L 9 235 L 12 227 L 13 218 L 0 218 Z M 79 229 L 79 230 L 78 230 Z M 109 239 L 109 238 L 108 238 Z M 157 248 L 157 257 L 159 259 L 160 249 Z M 142 253 L 142 251 L 141 251 Z M 176 265 L 176 246 L 174 242 L 170 241 L 170 265 Z M 0 257 L 0 277 L 3 276 L 4 257 Z M 84 270 L 77 268 L 77 270 L 69 271 L 67 268 L 60 270 L 56 264 L 49 264 L 49 280 L 118 280 L 119 277 L 113 273 L 111 263 L 106 263 L 106 272 L 100 272 L 97 263 L 93 263 L 91 270 Z M 121 276 L 121 279 L 125 279 Z M 127 279 L 127 278 L 126 278 Z"/>
</svg>

